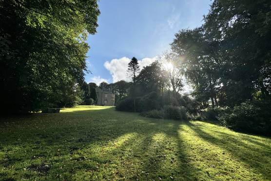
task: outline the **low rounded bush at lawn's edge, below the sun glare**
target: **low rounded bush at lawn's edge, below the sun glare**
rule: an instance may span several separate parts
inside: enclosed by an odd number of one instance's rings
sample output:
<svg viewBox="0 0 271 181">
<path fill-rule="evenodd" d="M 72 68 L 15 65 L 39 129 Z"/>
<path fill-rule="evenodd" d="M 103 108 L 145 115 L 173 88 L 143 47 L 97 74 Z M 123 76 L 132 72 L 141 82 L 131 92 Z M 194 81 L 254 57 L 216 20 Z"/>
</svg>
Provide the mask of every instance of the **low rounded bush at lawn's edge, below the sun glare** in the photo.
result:
<svg viewBox="0 0 271 181">
<path fill-rule="evenodd" d="M 187 121 L 187 112 L 186 109 L 182 106 L 164 106 L 164 118 L 172 120 L 183 120 Z"/>
</svg>

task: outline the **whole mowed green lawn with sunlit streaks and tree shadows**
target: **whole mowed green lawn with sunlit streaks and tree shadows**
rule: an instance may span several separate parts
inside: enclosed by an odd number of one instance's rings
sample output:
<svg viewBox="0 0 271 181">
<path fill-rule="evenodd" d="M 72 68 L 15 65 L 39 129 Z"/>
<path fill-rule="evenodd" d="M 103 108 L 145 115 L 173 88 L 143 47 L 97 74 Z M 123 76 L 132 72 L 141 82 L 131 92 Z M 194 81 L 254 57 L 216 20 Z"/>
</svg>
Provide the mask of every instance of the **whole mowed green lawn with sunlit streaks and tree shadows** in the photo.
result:
<svg viewBox="0 0 271 181">
<path fill-rule="evenodd" d="M 270 180 L 271 139 L 78 106 L 0 122 L 0 180 Z"/>
</svg>

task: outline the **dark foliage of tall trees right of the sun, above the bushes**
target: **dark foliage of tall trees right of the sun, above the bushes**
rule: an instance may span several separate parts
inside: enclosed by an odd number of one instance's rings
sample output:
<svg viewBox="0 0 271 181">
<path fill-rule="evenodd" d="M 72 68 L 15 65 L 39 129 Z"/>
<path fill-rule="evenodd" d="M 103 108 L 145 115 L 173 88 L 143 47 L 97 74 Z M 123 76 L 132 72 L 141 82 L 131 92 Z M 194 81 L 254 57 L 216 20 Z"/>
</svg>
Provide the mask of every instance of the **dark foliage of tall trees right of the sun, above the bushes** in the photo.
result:
<svg viewBox="0 0 271 181">
<path fill-rule="evenodd" d="M 204 24 L 175 35 L 194 97 L 206 107 L 239 105 L 271 94 L 270 0 L 214 0 Z"/>
</svg>

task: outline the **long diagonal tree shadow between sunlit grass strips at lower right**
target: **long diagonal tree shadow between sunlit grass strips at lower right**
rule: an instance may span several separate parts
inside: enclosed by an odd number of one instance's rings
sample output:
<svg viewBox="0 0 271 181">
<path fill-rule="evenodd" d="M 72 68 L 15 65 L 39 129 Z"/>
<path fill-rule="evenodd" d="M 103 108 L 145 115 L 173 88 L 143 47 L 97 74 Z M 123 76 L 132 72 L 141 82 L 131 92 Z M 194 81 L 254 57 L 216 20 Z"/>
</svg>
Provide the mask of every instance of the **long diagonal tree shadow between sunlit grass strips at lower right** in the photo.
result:
<svg viewBox="0 0 271 181">
<path fill-rule="evenodd" d="M 204 131 L 204 128 L 196 127 L 191 123 L 189 124 L 189 126 L 201 139 L 204 139 L 205 141 L 215 144 L 218 147 L 228 151 L 240 162 L 244 162 L 250 165 L 250 167 L 252 168 L 252 170 L 255 171 L 255 173 L 262 174 L 265 179 L 271 178 L 270 147 L 255 148 L 253 146 L 250 146 L 249 144 L 244 143 L 243 141 L 239 141 L 232 135 L 225 134 L 224 132 L 212 130 L 212 134 Z M 250 142 L 250 139 L 245 140 Z"/>
</svg>

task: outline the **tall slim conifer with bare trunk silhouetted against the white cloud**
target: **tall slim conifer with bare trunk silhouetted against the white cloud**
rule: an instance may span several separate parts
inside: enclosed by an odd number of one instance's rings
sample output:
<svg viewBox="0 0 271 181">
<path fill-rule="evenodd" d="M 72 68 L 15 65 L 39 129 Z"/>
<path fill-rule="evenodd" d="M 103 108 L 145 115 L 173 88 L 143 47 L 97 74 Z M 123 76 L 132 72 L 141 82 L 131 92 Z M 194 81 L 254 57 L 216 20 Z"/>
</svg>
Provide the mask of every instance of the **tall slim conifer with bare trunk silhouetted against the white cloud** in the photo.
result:
<svg viewBox="0 0 271 181">
<path fill-rule="evenodd" d="M 134 112 L 136 112 L 136 92 L 135 92 L 135 82 L 136 82 L 136 73 L 139 72 L 138 61 L 135 57 L 128 63 L 128 75 L 132 77 L 133 87 L 132 87 L 132 97 L 134 98 Z"/>
</svg>

